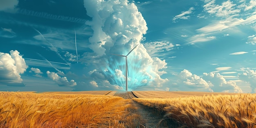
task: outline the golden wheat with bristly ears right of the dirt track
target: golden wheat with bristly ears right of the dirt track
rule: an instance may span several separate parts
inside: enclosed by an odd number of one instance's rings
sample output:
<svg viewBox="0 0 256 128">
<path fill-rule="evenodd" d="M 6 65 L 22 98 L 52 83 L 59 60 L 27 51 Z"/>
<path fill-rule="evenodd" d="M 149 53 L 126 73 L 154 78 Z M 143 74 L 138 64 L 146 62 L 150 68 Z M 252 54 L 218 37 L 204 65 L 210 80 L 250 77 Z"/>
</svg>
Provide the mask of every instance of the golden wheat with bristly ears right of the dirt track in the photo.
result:
<svg viewBox="0 0 256 128">
<path fill-rule="evenodd" d="M 256 95 L 194 96 L 134 101 L 166 112 L 189 128 L 255 128 Z"/>
</svg>

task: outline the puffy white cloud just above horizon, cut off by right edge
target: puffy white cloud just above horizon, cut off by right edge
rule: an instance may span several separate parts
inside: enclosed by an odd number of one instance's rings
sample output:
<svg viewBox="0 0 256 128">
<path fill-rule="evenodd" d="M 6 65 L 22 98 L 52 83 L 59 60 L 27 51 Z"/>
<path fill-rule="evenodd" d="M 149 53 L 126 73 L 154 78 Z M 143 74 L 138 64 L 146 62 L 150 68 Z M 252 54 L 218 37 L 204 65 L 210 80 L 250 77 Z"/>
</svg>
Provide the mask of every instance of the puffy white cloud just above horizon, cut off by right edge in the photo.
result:
<svg viewBox="0 0 256 128">
<path fill-rule="evenodd" d="M 256 70 L 244 69 L 243 73 L 238 74 L 238 78 L 246 83 L 249 83 L 252 93 L 255 93 L 256 89 Z"/>
</svg>

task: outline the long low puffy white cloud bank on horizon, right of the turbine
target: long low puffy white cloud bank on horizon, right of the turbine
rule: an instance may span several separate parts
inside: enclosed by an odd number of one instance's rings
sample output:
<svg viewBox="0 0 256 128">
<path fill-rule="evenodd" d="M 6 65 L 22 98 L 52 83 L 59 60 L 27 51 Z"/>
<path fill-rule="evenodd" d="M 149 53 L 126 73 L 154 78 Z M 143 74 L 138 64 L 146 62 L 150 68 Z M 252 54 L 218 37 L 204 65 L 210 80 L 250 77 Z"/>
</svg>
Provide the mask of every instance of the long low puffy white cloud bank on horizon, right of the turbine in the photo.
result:
<svg viewBox="0 0 256 128">
<path fill-rule="evenodd" d="M 206 91 L 206 92 L 238 92 L 243 91 L 236 85 L 236 82 L 226 81 L 219 73 L 204 73 L 203 76 L 192 74 L 183 70 L 176 75 L 177 80 L 173 86 L 179 90 Z"/>
</svg>

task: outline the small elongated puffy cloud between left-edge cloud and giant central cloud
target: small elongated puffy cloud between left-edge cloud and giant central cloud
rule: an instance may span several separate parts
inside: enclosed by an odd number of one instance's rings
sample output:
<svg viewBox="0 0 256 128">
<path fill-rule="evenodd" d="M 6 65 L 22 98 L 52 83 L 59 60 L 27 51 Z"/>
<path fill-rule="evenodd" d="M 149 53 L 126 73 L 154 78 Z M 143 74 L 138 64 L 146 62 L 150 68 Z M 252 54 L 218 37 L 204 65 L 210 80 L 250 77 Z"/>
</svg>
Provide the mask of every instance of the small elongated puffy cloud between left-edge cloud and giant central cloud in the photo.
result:
<svg viewBox="0 0 256 128">
<path fill-rule="evenodd" d="M 74 80 L 67 80 L 67 77 L 61 77 L 59 76 L 57 73 L 55 72 L 50 72 L 47 71 L 46 72 L 47 76 L 52 79 L 53 81 L 55 81 L 59 86 L 75 86 L 76 82 Z"/>
</svg>

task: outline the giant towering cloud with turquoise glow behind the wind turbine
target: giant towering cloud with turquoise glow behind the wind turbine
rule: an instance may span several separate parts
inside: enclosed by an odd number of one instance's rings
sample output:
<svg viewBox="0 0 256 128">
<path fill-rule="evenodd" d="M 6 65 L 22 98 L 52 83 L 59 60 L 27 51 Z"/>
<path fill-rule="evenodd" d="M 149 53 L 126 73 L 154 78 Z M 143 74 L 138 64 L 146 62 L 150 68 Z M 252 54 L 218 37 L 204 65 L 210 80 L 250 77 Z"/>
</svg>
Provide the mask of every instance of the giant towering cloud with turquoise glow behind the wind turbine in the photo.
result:
<svg viewBox="0 0 256 128">
<path fill-rule="evenodd" d="M 125 73 L 125 58 L 111 54 L 126 55 L 136 45 L 128 56 L 129 89 L 146 85 L 159 88 L 168 81 L 160 77 L 167 65 L 165 60 L 150 57 L 140 44 L 148 28 L 134 3 L 128 0 L 84 0 L 84 7 L 92 18 L 86 24 L 94 32 L 89 38 L 89 48 L 93 52 L 83 55 L 83 60 L 90 59 L 92 63 L 83 63 L 94 65 L 95 70 L 104 75 L 94 83 L 107 79 L 113 85 L 124 86 L 125 79 L 117 80 L 115 74 L 120 70 Z"/>
</svg>

